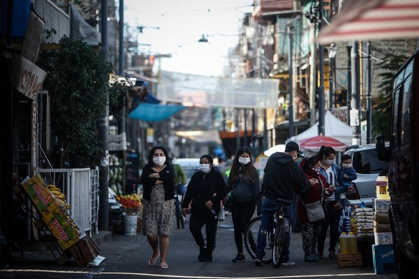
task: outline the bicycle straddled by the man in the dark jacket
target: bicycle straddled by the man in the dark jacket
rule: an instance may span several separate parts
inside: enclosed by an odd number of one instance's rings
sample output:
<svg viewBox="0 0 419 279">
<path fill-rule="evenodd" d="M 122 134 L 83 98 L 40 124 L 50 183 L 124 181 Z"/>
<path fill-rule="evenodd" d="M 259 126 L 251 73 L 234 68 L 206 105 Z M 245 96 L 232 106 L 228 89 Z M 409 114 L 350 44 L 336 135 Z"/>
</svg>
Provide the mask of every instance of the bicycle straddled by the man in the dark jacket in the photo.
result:
<svg viewBox="0 0 419 279">
<path fill-rule="evenodd" d="M 284 206 L 290 206 L 292 201 L 286 199 L 277 199 L 277 203 L 281 206 L 279 211 L 274 213 L 274 225 L 272 231 L 267 234 L 267 241 L 265 247 L 264 264 L 270 264 L 278 268 L 284 260 L 284 252 L 288 241 L 288 234 L 290 234 L 290 225 L 288 219 L 282 212 Z M 255 217 L 250 220 L 246 229 L 244 230 L 244 246 L 250 257 L 256 259 L 256 243 L 258 243 L 258 232 L 260 227 L 261 216 Z"/>
</svg>

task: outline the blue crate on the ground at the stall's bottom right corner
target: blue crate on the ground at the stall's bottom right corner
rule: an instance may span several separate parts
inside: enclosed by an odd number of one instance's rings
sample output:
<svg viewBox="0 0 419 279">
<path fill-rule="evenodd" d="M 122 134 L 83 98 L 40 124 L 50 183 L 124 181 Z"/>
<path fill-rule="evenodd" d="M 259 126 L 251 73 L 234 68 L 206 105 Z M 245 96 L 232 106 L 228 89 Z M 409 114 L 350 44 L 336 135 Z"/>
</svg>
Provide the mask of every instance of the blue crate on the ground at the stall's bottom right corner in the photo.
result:
<svg viewBox="0 0 419 279">
<path fill-rule="evenodd" d="M 392 245 L 373 245 L 372 260 L 376 274 L 396 273 L 395 252 Z"/>
</svg>

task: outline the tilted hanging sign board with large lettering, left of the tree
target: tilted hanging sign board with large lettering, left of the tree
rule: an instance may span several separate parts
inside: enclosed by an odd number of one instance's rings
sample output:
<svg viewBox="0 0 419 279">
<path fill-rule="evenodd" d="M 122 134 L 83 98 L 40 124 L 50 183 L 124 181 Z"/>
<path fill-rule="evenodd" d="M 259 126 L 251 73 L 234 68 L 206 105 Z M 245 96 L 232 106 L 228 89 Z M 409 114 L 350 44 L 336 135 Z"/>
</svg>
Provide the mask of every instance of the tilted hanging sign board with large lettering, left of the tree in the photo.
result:
<svg viewBox="0 0 419 279">
<path fill-rule="evenodd" d="M 24 96 L 36 100 L 46 76 L 45 70 L 23 56 L 13 54 L 13 85 Z"/>
</svg>

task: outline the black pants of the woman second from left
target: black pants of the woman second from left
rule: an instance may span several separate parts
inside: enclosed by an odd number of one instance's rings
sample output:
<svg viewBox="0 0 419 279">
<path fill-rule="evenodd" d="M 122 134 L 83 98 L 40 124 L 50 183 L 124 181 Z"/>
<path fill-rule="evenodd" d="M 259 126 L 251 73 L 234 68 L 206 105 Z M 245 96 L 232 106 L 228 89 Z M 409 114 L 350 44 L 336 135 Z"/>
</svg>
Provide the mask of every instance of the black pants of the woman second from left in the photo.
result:
<svg viewBox="0 0 419 279">
<path fill-rule="evenodd" d="M 212 251 L 215 249 L 217 223 L 218 214 L 205 214 L 200 216 L 191 214 L 191 217 L 189 218 L 189 230 L 192 233 L 193 239 L 195 239 L 195 242 L 199 248 L 204 248 L 207 246 L 208 255 L 212 255 Z M 206 245 L 203 233 L 201 232 L 201 229 L 204 225 L 205 234 L 207 235 Z"/>
</svg>

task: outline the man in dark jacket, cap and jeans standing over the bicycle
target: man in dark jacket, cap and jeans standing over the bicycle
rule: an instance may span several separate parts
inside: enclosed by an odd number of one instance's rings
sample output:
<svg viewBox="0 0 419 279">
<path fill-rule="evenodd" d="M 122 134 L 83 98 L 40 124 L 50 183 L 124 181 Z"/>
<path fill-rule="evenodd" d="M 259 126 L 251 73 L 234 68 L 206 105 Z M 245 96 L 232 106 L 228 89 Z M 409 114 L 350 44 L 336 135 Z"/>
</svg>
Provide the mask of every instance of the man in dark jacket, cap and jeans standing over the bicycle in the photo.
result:
<svg viewBox="0 0 419 279">
<path fill-rule="evenodd" d="M 316 179 L 307 181 L 304 172 L 295 159 L 300 152 L 300 146 L 297 142 L 288 142 L 285 146 L 285 152 L 273 153 L 267 160 L 266 167 L 263 170 L 263 192 L 265 198 L 262 205 L 262 220 L 260 221 L 258 243 L 256 246 L 256 266 L 263 265 L 263 257 L 265 256 L 266 234 L 270 232 L 274 221 L 274 213 L 279 210 L 277 199 L 293 200 L 294 189 L 305 191 L 311 185 L 316 183 Z M 284 214 L 291 224 L 293 216 L 293 205 L 284 206 Z M 289 239 L 288 234 L 287 247 L 285 250 L 284 260 L 281 265 L 292 266 L 295 263 L 289 260 Z"/>
</svg>

